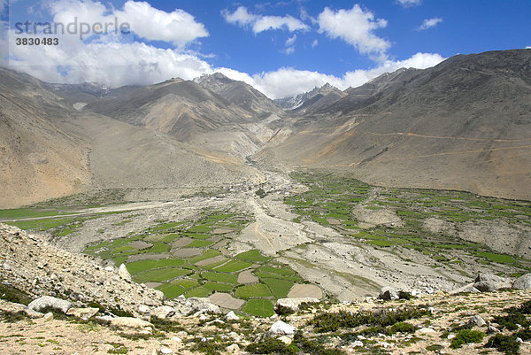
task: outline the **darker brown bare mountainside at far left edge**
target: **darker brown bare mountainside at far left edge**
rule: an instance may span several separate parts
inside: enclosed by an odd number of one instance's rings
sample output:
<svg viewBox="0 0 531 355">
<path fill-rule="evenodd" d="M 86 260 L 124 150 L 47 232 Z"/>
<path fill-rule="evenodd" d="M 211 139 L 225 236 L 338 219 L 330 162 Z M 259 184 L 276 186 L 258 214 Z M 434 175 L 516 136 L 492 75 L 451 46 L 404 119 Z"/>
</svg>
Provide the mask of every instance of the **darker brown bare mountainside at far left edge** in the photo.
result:
<svg viewBox="0 0 531 355">
<path fill-rule="evenodd" d="M 0 208 L 81 191 L 89 183 L 88 142 L 58 128 L 58 96 L 27 75 L 0 70 Z"/>
</svg>

